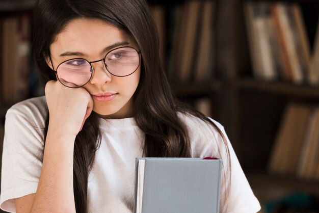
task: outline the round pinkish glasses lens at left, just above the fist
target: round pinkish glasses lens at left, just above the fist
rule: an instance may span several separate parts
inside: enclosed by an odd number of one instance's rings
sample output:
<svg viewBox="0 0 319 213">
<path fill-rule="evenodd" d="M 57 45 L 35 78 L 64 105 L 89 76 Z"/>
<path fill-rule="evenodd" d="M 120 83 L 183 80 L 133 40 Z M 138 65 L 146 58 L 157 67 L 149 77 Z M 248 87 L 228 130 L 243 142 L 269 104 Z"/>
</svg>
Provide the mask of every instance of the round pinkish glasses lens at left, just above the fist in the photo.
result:
<svg viewBox="0 0 319 213">
<path fill-rule="evenodd" d="M 71 59 L 57 68 L 59 81 L 67 87 L 82 87 L 90 81 L 91 65 L 84 59 Z"/>
</svg>

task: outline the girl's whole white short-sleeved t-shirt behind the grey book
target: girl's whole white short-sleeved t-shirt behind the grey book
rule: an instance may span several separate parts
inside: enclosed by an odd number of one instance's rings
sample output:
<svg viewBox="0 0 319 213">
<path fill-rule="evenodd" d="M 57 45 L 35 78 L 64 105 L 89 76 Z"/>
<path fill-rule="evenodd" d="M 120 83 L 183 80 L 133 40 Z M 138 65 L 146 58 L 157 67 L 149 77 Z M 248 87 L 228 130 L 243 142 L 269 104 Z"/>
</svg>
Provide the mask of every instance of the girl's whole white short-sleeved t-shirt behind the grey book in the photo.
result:
<svg viewBox="0 0 319 213">
<path fill-rule="evenodd" d="M 7 112 L 0 195 L 3 210 L 15 212 L 15 198 L 36 193 L 43 159 L 46 108 L 43 96 L 17 103 Z M 193 157 L 225 158 L 225 147 L 215 128 L 190 115 L 179 114 L 179 117 L 189 129 Z M 135 158 L 143 155 L 144 133 L 134 118 L 101 120 L 102 141 L 88 181 L 89 212 L 132 212 Z M 259 202 L 225 130 L 214 122 L 227 139 L 231 158 L 231 188 L 225 212 L 257 212 Z M 224 168 L 228 169 L 225 161 Z M 222 176 L 221 203 L 224 181 Z"/>
</svg>

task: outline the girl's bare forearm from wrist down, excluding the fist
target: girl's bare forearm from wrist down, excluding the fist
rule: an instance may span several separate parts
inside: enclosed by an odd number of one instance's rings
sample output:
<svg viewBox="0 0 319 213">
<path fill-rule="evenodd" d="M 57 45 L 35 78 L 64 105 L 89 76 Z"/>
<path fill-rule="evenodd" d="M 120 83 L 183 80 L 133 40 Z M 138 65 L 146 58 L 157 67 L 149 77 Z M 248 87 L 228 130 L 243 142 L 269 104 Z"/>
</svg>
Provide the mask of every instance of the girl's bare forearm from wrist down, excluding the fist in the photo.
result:
<svg viewBox="0 0 319 213">
<path fill-rule="evenodd" d="M 50 129 L 49 129 L 50 130 Z M 73 145 L 75 137 L 48 131 L 38 189 L 31 212 L 75 212 Z"/>
</svg>

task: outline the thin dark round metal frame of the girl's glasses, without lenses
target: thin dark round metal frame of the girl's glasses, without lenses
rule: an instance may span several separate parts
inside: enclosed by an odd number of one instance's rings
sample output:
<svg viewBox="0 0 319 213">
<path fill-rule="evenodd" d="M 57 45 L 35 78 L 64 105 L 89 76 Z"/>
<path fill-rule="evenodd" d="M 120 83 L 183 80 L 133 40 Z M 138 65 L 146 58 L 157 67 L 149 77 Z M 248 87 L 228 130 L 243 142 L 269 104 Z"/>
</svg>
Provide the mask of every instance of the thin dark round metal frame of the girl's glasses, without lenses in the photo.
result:
<svg viewBox="0 0 319 213">
<path fill-rule="evenodd" d="M 59 68 L 59 66 L 60 66 L 61 64 L 65 63 L 65 62 L 67 62 L 67 61 L 75 60 L 75 59 L 81 59 L 81 60 L 87 61 L 87 62 L 90 64 L 90 66 L 91 66 L 91 69 L 90 69 L 91 76 L 90 76 L 89 80 L 84 84 L 84 85 L 86 85 L 86 84 L 91 80 L 91 78 L 92 78 L 92 76 L 93 76 L 93 70 L 94 70 L 94 69 L 93 69 L 93 67 L 92 67 L 92 63 L 96 63 L 96 62 L 103 61 L 103 64 L 104 64 L 105 69 L 108 70 L 108 65 L 107 65 L 107 63 L 105 63 L 105 58 L 107 58 L 107 56 L 108 56 L 108 54 L 109 54 L 110 52 L 112 52 L 112 51 L 114 51 L 114 50 L 116 50 L 116 49 L 125 48 L 125 47 L 126 47 L 126 48 L 129 47 L 129 48 L 134 49 L 135 51 L 137 51 L 137 53 L 138 53 L 138 55 L 139 55 L 139 65 L 137 66 L 137 68 L 136 68 L 134 71 L 132 71 L 130 74 L 128 74 L 128 75 L 131 75 L 131 74 L 133 74 L 133 73 L 140 67 L 140 64 L 141 64 L 141 56 L 140 56 L 141 50 L 138 51 L 136 48 L 131 47 L 131 46 L 121 46 L 121 47 L 117 47 L 117 48 L 115 48 L 115 49 L 111 49 L 110 51 L 107 52 L 107 54 L 105 54 L 105 57 L 104 57 L 103 59 L 100 59 L 100 60 L 97 60 L 97 61 L 91 61 L 91 62 L 90 62 L 90 61 L 88 61 L 88 60 L 86 60 L 86 59 L 84 59 L 84 58 L 68 59 L 68 60 L 66 60 L 66 61 L 61 62 L 61 63 L 57 66 L 57 69 L 56 69 L 56 70 L 55 70 L 55 68 L 54 68 L 54 66 L 53 66 L 53 62 L 52 62 L 52 60 L 51 60 L 51 56 L 50 56 L 50 55 L 49 55 L 49 59 L 50 59 L 50 62 L 51 62 L 53 71 L 56 73 L 59 82 L 61 82 L 61 81 L 60 81 L 60 78 L 59 78 L 59 75 L 58 75 L 58 68 Z M 113 76 L 116 76 L 116 77 L 126 77 L 126 76 L 128 76 L 128 75 L 115 75 L 115 74 L 113 74 L 110 70 L 108 70 L 108 72 L 109 72 L 110 74 L 112 74 Z M 61 84 L 62 84 L 63 86 L 65 86 L 65 87 L 69 87 L 69 86 L 64 85 L 62 82 L 61 82 Z M 78 86 L 78 87 L 69 87 L 69 88 L 79 88 L 79 87 L 83 87 L 84 85 Z"/>
</svg>

